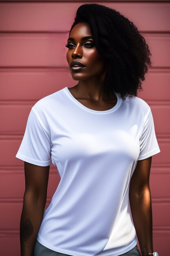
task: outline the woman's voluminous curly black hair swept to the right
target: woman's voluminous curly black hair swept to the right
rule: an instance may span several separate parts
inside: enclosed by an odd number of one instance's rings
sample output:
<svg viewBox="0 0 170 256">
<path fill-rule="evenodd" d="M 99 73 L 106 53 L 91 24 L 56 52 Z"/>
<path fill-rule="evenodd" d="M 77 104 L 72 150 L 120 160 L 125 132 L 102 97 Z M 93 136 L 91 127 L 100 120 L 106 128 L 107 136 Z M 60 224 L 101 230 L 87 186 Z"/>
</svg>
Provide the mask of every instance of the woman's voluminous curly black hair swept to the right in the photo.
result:
<svg viewBox="0 0 170 256">
<path fill-rule="evenodd" d="M 134 23 L 102 4 L 82 4 L 69 35 L 79 22 L 89 24 L 95 47 L 106 60 L 104 90 L 117 92 L 122 100 L 137 96 L 137 90 L 143 90 L 141 80 L 148 71 L 146 64 L 151 66 L 152 54 Z"/>
</svg>

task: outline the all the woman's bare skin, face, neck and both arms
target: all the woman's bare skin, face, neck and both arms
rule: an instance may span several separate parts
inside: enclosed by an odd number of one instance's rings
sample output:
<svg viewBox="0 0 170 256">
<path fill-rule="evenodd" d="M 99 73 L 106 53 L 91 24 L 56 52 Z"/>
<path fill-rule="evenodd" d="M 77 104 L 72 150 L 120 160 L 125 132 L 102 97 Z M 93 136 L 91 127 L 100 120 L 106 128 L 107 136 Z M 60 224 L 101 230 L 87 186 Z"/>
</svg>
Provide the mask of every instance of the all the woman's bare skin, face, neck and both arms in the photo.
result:
<svg viewBox="0 0 170 256">
<path fill-rule="evenodd" d="M 73 97 L 87 108 L 108 110 L 117 103 L 115 94 L 104 93 L 102 81 L 106 75 L 105 60 L 99 55 L 93 38 L 81 40 L 84 36 L 92 36 L 88 23 L 79 23 L 71 31 L 68 40 L 72 45 L 66 54 L 68 65 L 72 61 L 82 62 L 86 68 L 71 75 L 79 81 L 69 88 Z M 130 180 L 129 200 L 133 222 L 137 232 L 142 254 L 152 253 L 152 205 L 149 188 L 149 176 L 152 157 L 137 162 Z M 24 162 L 25 192 L 20 220 L 21 256 L 32 256 L 35 239 L 42 222 L 46 204 L 47 186 L 50 166 L 37 166 Z"/>
</svg>

